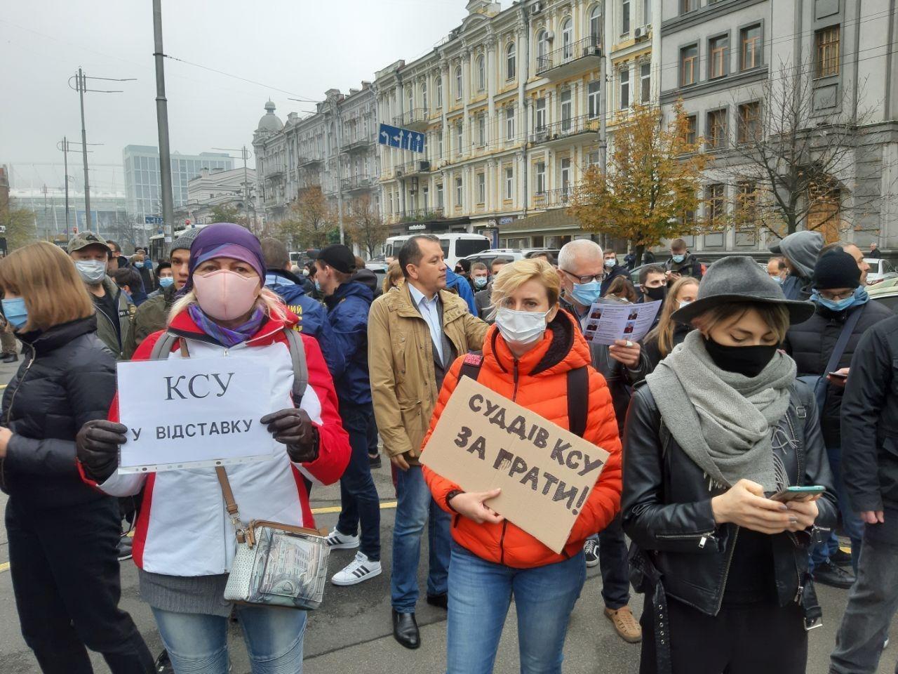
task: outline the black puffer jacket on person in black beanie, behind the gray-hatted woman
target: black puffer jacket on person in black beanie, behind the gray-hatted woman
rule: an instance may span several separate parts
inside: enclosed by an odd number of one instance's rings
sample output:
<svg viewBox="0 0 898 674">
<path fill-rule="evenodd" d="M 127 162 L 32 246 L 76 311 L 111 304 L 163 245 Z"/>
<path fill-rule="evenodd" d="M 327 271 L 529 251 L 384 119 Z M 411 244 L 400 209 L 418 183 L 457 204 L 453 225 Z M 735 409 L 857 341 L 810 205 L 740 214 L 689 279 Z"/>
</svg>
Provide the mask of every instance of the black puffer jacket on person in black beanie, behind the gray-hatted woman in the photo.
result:
<svg viewBox="0 0 898 674">
<path fill-rule="evenodd" d="M 826 363 L 832 356 L 832 350 L 839 341 L 842 326 L 849 315 L 861 312 L 858 324 L 851 332 L 848 344 L 842 352 L 839 364 L 833 369 L 848 368 L 851 357 L 858 348 L 861 336 L 872 325 L 893 316 L 885 306 L 874 300 L 860 306 L 852 306 L 845 311 L 832 311 L 823 305 L 817 305 L 814 315 L 805 323 L 793 325 L 786 335 L 786 350 L 795 359 L 798 377 L 807 375 L 825 375 Z M 841 447 L 841 431 L 839 415 L 844 389 L 841 386 L 826 384 L 826 402 L 820 415 L 823 427 L 823 444 L 826 447 Z"/>
</svg>

